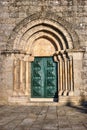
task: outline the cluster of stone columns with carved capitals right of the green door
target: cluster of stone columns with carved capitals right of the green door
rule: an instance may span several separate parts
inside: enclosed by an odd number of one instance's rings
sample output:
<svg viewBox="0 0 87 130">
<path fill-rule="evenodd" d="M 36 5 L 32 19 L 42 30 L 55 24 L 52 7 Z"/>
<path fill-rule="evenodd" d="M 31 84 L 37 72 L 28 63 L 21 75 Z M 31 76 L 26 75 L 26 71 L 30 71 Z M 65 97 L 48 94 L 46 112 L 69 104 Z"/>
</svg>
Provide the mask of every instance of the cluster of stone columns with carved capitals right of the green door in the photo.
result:
<svg viewBox="0 0 87 130">
<path fill-rule="evenodd" d="M 55 53 L 54 61 L 58 62 L 58 95 L 73 96 L 73 57 L 63 50 Z"/>
</svg>

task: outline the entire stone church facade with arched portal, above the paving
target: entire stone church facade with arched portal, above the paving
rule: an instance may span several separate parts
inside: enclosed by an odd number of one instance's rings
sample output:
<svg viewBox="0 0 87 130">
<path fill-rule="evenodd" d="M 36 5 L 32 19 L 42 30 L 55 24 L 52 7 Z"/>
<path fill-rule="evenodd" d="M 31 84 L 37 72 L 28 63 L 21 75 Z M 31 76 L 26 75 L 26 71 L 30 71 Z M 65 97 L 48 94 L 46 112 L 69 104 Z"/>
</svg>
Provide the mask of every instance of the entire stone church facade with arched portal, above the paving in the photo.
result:
<svg viewBox="0 0 87 130">
<path fill-rule="evenodd" d="M 0 103 L 87 101 L 87 0 L 0 0 Z"/>
</svg>

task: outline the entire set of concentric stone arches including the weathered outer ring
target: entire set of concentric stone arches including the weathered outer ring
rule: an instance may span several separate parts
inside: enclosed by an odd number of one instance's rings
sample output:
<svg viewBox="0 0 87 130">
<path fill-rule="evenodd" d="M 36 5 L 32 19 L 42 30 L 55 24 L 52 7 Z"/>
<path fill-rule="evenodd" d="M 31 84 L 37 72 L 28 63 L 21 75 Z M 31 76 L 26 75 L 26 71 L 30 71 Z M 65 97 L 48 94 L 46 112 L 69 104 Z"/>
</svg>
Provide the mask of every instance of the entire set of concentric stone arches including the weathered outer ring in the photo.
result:
<svg viewBox="0 0 87 130">
<path fill-rule="evenodd" d="M 7 49 L 29 51 L 29 47 L 33 42 L 37 38 L 44 36 L 48 40 L 52 39 L 54 41 L 57 46 L 57 51 L 73 49 L 75 43 L 78 46 L 78 37 L 76 37 L 76 33 L 72 28 L 69 27 L 69 24 L 57 15 L 52 14 L 52 16 L 49 15 L 47 17 L 47 15 L 43 16 L 38 13 L 23 20 L 13 30 L 13 34 L 8 41 Z"/>
</svg>

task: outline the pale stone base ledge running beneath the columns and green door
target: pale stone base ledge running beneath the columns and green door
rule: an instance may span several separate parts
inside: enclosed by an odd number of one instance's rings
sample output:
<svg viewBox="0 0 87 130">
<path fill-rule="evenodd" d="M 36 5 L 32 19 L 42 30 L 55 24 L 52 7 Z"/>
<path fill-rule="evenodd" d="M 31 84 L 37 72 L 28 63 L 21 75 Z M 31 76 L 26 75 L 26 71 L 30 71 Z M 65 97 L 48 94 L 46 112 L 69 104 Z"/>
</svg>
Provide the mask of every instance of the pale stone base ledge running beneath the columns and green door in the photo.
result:
<svg viewBox="0 0 87 130">
<path fill-rule="evenodd" d="M 80 97 L 59 96 L 58 101 L 53 98 L 30 98 L 28 96 L 9 97 L 9 104 L 30 105 L 30 106 L 60 106 L 60 105 L 79 105 Z"/>
</svg>

